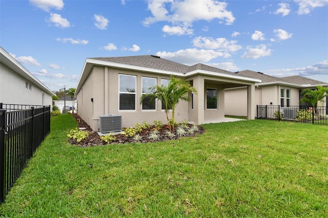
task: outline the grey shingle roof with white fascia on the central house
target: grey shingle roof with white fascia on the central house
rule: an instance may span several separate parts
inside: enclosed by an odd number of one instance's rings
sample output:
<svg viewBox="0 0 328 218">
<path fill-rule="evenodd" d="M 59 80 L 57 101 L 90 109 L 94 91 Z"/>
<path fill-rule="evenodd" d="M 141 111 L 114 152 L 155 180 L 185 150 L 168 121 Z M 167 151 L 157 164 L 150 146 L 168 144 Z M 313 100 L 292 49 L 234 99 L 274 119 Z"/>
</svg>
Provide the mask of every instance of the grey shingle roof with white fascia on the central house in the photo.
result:
<svg viewBox="0 0 328 218">
<path fill-rule="evenodd" d="M 206 64 L 197 63 L 193 66 L 163 59 L 155 55 L 138 55 L 126 57 L 93 57 L 87 58 L 81 76 L 79 78 L 76 92 L 86 80 L 93 66 L 109 66 L 112 68 L 129 69 L 134 71 L 152 72 L 156 74 L 173 74 L 176 76 L 192 76 L 203 74 L 214 77 L 230 78 L 245 82 L 260 82 L 259 79 L 236 75 L 235 73 L 221 70 Z"/>
</svg>

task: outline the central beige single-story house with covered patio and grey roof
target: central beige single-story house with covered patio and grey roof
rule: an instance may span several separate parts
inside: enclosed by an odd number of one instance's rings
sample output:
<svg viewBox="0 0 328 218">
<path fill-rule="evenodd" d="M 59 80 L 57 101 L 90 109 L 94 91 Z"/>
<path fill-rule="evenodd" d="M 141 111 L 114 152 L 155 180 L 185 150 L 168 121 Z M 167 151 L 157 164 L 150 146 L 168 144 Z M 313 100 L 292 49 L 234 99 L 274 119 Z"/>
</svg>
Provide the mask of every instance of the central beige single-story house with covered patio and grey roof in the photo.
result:
<svg viewBox="0 0 328 218">
<path fill-rule="evenodd" d="M 143 93 L 154 85 L 168 84 L 170 75 L 186 78 L 198 91 L 190 93 L 190 102 L 181 101 L 175 112 L 177 122 L 197 124 L 224 118 L 224 89 L 247 87 L 248 119 L 255 118 L 255 82 L 235 73 L 197 63 L 194 66 L 173 62 L 154 55 L 87 58 L 75 95 L 77 114 L 93 130 L 98 130 L 99 116 L 118 114 L 122 127 L 154 120 L 166 123 L 161 102 L 139 104 Z"/>
</svg>

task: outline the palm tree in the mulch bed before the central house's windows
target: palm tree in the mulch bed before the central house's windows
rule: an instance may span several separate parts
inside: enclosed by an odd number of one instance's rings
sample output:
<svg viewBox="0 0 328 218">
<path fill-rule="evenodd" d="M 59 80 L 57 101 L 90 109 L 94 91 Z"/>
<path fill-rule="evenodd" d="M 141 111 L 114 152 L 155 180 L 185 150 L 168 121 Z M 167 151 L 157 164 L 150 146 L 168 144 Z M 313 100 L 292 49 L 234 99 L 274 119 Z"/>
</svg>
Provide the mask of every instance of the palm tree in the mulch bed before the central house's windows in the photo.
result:
<svg viewBox="0 0 328 218">
<path fill-rule="evenodd" d="M 197 90 L 190 85 L 189 81 L 184 78 L 178 78 L 171 75 L 171 80 L 168 86 L 165 85 L 155 85 L 150 88 L 150 93 L 144 94 L 140 98 L 140 104 L 146 98 L 149 99 L 149 103 L 154 100 L 160 100 L 162 104 L 165 106 L 165 113 L 168 120 L 168 125 L 171 129 L 170 118 L 169 118 L 169 110 L 172 110 L 172 128 L 174 128 L 175 123 L 175 107 L 182 101 L 190 101 L 188 94 L 190 92 L 194 92 L 197 94 Z"/>
</svg>

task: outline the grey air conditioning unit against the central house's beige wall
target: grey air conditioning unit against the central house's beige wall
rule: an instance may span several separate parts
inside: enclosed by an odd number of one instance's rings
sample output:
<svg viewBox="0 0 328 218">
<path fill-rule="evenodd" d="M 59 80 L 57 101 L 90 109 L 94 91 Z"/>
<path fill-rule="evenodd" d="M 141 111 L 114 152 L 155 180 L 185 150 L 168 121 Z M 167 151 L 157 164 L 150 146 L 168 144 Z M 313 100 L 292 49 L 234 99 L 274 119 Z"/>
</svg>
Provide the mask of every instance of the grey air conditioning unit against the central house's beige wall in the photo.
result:
<svg viewBox="0 0 328 218">
<path fill-rule="evenodd" d="M 110 133 L 122 130 L 122 116 L 117 114 L 105 114 L 99 116 L 99 132 Z"/>
</svg>

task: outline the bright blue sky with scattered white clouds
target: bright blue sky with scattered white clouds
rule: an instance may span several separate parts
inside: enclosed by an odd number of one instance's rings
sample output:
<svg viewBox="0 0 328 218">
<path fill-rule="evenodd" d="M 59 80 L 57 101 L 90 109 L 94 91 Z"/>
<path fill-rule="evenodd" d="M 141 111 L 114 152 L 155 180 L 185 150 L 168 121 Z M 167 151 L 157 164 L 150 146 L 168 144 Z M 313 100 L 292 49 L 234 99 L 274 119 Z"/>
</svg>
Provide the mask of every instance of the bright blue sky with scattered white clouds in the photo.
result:
<svg viewBox="0 0 328 218">
<path fill-rule="evenodd" d="M 328 0 L 0 0 L 0 46 L 50 90 L 86 58 L 158 55 L 328 83 Z"/>
</svg>

